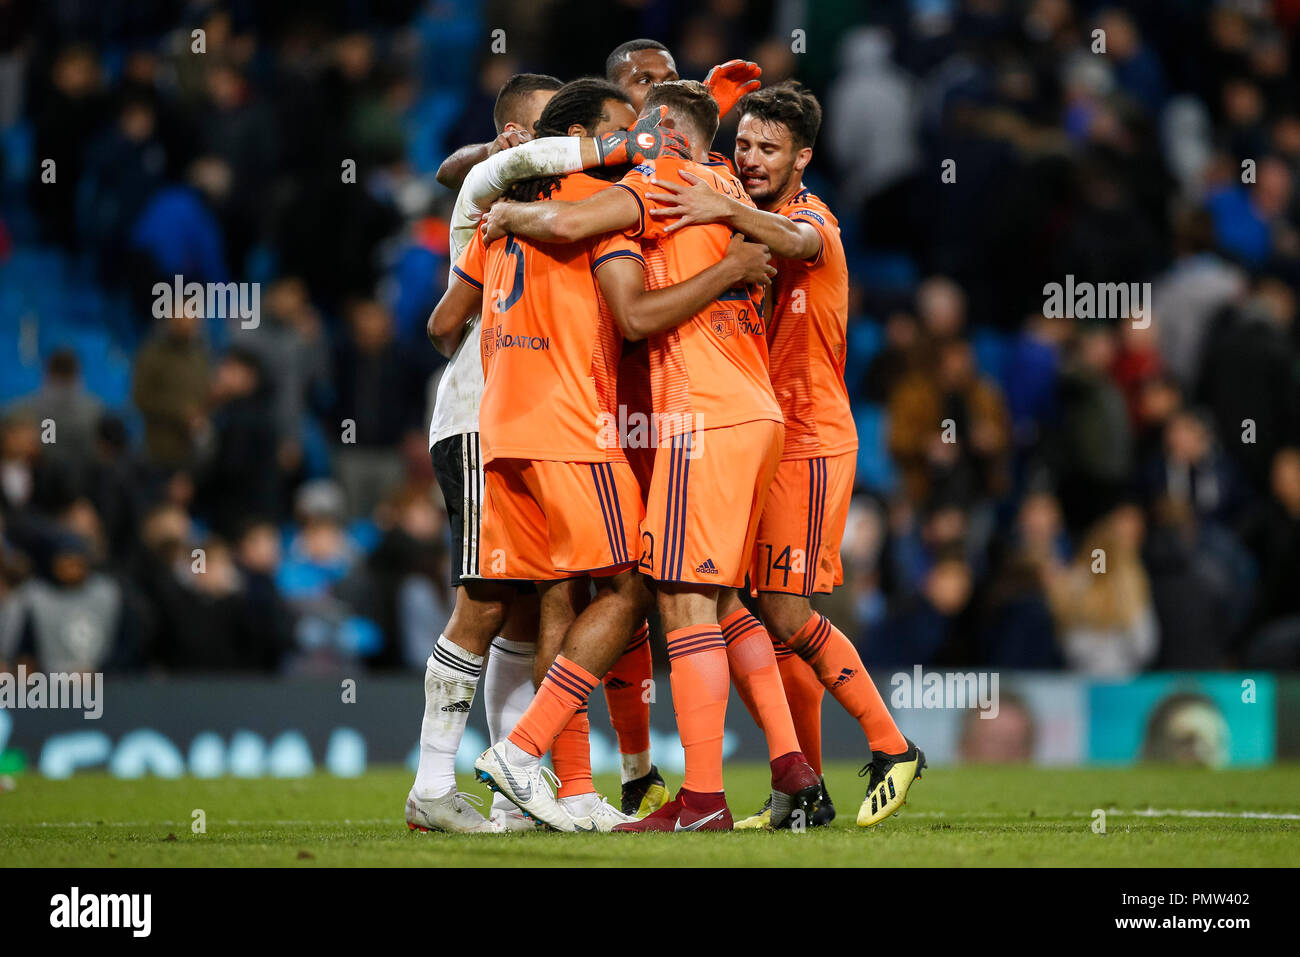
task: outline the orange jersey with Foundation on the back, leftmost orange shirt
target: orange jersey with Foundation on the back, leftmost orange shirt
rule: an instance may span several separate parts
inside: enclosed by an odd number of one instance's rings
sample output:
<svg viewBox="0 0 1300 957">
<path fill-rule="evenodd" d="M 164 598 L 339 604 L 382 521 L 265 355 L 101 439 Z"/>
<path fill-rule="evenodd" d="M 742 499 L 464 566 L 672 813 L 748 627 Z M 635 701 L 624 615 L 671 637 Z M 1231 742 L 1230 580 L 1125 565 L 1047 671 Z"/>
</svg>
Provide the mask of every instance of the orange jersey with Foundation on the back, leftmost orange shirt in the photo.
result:
<svg viewBox="0 0 1300 957">
<path fill-rule="evenodd" d="M 575 173 L 549 199 L 586 199 L 608 186 Z M 618 257 L 641 261 L 641 248 L 616 233 L 581 243 L 508 235 L 489 247 L 481 230 L 465 246 L 455 273 L 484 293 L 484 462 L 624 460 L 618 441 L 623 334 L 595 285 L 595 270 Z"/>
</svg>

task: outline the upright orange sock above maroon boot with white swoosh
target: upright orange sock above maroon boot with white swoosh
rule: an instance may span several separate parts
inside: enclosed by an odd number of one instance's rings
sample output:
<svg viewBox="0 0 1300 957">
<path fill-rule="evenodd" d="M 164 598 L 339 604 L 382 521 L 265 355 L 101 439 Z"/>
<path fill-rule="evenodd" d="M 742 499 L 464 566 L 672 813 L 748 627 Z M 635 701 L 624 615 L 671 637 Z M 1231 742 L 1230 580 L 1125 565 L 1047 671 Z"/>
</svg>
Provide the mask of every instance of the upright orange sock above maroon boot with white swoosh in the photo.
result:
<svg viewBox="0 0 1300 957">
<path fill-rule="evenodd" d="M 686 752 L 681 787 L 697 793 L 723 789 L 723 726 L 727 723 L 727 645 L 716 624 L 668 632 L 672 707 Z"/>
</svg>

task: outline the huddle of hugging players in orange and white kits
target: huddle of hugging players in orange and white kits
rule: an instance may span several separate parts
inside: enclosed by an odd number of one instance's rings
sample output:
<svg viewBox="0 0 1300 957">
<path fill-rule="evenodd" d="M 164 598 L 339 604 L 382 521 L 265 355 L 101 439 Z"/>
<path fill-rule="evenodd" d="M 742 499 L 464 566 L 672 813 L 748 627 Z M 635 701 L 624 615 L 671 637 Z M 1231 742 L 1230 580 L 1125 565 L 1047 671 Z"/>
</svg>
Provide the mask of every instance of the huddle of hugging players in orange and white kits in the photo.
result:
<svg viewBox="0 0 1300 957">
<path fill-rule="evenodd" d="M 736 151 L 723 157 L 710 147 L 731 109 Z M 858 447 L 844 247 L 802 185 L 816 99 L 796 83 L 760 88 L 742 61 L 682 81 L 662 44 L 633 40 L 606 79 L 511 78 L 494 120 L 494 143 L 438 174 L 460 190 L 451 277 L 429 317 L 451 356 L 430 447 L 458 590 L 425 672 L 408 826 L 826 824 L 827 690 L 864 736 L 857 823 L 883 820 L 924 754 L 810 601 L 842 581 Z M 650 753 L 651 610 L 685 752 L 676 797 Z M 455 780 L 480 679 L 486 817 Z M 772 768 L 767 804 L 738 823 L 723 788 L 732 684 Z M 598 685 L 623 761 L 619 807 L 592 783 Z"/>
</svg>

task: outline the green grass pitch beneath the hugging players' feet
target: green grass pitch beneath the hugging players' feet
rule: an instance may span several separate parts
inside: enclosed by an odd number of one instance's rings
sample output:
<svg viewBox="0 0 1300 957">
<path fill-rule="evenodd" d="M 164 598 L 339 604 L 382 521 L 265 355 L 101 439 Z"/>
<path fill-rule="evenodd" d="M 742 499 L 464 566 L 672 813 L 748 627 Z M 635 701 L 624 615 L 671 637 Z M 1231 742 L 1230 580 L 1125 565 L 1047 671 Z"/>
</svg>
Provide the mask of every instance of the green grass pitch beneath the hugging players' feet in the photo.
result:
<svg viewBox="0 0 1300 957">
<path fill-rule="evenodd" d="M 462 785 L 486 794 L 462 775 Z M 680 781 L 670 778 L 670 785 Z M 754 810 L 767 768 L 728 766 L 737 819 Z M 411 775 L 358 779 L 69 780 L 20 776 L 0 793 L 0 866 L 1295 866 L 1300 766 L 1253 771 L 1174 767 L 1044 770 L 933 767 L 907 806 L 854 827 L 862 781 L 833 765 L 840 817 L 806 833 L 452 836 L 408 832 Z M 597 785 L 618 794 L 618 780 Z M 207 813 L 207 833 L 191 813 Z M 1096 807 L 1110 814 L 1093 833 Z M 1232 817 L 1140 817 L 1182 809 Z"/>
</svg>

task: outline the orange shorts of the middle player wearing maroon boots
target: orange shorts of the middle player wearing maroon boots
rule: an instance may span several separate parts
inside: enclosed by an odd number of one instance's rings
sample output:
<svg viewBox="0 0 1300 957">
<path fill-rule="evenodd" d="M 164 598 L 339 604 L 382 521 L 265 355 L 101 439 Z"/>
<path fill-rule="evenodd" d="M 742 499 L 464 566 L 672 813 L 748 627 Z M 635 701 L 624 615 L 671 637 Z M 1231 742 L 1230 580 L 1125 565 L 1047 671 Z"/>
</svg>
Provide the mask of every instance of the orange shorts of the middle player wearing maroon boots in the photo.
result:
<svg viewBox="0 0 1300 957">
<path fill-rule="evenodd" d="M 785 425 L 770 420 L 663 439 L 641 523 L 641 572 L 741 588 L 784 443 Z"/>
</svg>

